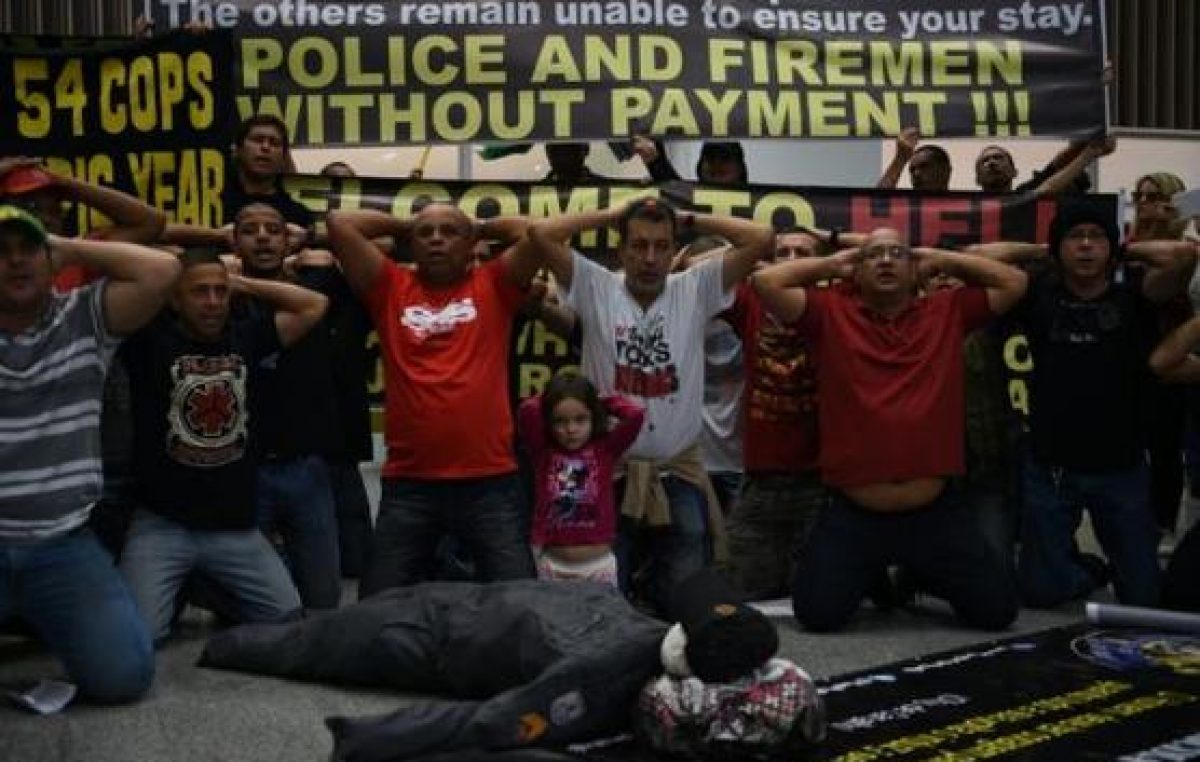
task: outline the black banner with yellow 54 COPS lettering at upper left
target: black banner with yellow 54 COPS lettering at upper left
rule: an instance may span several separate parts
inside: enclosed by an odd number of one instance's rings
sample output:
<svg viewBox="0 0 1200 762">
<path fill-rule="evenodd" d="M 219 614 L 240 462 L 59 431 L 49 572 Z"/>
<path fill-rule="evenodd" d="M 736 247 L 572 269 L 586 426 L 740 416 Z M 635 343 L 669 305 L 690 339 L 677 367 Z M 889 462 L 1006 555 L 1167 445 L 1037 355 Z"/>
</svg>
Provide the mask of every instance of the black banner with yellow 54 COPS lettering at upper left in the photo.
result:
<svg viewBox="0 0 1200 762">
<path fill-rule="evenodd" d="M 220 226 L 233 50 L 229 34 L 0 38 L 0 156 L 36 157 L 178 222 Z"/>
</svg>

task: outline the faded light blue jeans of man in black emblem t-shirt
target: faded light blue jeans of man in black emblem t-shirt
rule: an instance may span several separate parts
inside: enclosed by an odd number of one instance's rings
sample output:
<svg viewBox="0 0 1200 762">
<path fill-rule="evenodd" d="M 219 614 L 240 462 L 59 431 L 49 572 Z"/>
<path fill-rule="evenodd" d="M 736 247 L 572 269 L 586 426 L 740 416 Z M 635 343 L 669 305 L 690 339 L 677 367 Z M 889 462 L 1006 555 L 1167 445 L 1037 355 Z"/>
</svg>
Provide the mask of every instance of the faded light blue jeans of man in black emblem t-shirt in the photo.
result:
<svg viewBox="0 0 1200 762">
<path fill-rule="evenodd" d="M 300 608 L 288 570 L 258 529 L 202 532 L 138 510 L 121 574 L 156 643 L 169 634 L 179 589 L 193 570 L 227 594 L 222 613 L 238 622 L 274 622 Z"/>
</svg>

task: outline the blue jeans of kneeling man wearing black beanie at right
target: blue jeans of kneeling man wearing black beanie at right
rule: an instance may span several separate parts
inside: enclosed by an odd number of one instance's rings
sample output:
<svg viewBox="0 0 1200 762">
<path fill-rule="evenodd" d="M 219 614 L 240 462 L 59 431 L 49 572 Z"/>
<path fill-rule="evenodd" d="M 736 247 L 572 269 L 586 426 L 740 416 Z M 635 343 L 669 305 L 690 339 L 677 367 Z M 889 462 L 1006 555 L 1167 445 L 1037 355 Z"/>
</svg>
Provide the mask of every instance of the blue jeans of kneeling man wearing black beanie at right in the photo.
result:
<svg viewBox="0 0 1200 762">
<path fill-rule="evenodd" d="M 1158 605 L 1158 529 L 1145 464 L 1080 473 L 1027 456 L 1024 485 L 1016 571 L 1027 605 L 1057 606 L 1096 587 L 1096 580 L 1079 563 L 1075 546 L 1084 508 L 1091 512 L 1096 538 L 1108 557 L 1117 600 L 1133 606 Z"/>
</svg>

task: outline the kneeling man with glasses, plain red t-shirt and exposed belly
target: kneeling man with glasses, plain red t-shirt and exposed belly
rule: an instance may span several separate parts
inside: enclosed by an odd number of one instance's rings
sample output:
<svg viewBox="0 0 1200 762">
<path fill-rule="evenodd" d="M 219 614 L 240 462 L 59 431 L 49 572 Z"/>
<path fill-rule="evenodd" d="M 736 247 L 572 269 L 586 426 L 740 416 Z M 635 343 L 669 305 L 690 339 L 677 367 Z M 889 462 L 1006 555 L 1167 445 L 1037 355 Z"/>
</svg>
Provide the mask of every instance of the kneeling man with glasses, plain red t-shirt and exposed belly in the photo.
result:
<svg viewBox="0 0 1200 762">
<path fill-rule="evenodd" d="M 920 270 L 973 286 L 922 294 Z M 830 278 L 844 281 L 811 288 Z M 962 338 L 1021 298 L 1025 274 L 911 248 L 881 228 L 856 248 L 782 263 L 751 282 L 808 337 L 817 368 L 817 461 L 833 499 L 796 570 L 797 619 L 840 629 L 899 564 L 968 624 L 1007 626 L 1018 607 L 1010 564 L 947 480 L 964 470 Z"/>
</svg>

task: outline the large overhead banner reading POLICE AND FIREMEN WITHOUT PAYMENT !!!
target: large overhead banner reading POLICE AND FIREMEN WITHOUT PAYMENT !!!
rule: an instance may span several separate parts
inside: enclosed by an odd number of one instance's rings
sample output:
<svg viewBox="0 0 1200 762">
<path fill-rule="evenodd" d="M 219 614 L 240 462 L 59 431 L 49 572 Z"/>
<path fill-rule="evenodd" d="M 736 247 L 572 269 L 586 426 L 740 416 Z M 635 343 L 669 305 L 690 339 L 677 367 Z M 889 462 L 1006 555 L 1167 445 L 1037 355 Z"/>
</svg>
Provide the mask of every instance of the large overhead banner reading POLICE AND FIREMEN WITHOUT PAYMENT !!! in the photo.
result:
<svg viewBox="0 0 1200 762">
<path fill-rule="evenodd" d="M 299 145 L 1085 136 L 1100 0 L 132 0 L 238 34 Z"/>
</svg>

